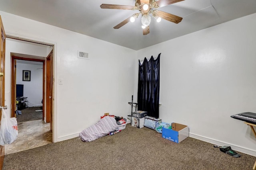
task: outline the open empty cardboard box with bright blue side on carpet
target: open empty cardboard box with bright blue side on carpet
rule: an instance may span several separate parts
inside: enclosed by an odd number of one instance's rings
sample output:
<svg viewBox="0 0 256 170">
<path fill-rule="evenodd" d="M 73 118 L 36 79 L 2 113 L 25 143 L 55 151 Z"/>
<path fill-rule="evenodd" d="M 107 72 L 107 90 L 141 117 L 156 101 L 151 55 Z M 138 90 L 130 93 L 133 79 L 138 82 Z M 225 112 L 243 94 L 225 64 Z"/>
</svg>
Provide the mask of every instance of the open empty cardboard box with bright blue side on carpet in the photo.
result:
<svg viewBox="0 0 256 170">
<path fill-rule="evenodd" d="M 162 128 L 162 137 L 176 143 L 186 139 L 188 134 L 188 126 L 179 123 L 172 123 L 172 129 Z"/>
</svg>

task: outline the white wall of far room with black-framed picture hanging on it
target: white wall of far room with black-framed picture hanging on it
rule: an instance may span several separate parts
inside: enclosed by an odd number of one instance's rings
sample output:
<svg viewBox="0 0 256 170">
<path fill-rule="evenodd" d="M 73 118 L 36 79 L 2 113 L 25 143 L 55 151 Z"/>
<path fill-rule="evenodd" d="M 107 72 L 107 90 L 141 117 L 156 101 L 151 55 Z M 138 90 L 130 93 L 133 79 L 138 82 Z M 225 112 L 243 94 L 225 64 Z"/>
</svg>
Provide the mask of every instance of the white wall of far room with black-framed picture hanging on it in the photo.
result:
<svg viewBox="0 0 256 170">
<path fill-rule="evenodd" d="M 16 84 L 24 84 L 23 96 L 28 97 L 28 107 L 42 106 L 43 69 L 41 65 L 16 63 Z M 23 70 L 30 70 L 30 81 L 22 81 Z"/>
</svg>

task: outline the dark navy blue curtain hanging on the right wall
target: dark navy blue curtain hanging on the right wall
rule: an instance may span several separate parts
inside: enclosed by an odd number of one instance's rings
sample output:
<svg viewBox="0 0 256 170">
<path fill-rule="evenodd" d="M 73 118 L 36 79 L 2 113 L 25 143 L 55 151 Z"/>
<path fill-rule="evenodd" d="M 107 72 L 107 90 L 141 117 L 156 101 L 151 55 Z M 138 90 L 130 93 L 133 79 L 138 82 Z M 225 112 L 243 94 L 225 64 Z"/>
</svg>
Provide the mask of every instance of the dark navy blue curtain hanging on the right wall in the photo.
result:
<svg viewBox="0 0 256 170">
<path fill-rule="evenodd" d="M 149 61 L 145 57 L 142 64 L 139 60 L 138 110 L 156 118 L 159 117 L 160 54 L 157 59 L 151 56 Z"/>
</svg>

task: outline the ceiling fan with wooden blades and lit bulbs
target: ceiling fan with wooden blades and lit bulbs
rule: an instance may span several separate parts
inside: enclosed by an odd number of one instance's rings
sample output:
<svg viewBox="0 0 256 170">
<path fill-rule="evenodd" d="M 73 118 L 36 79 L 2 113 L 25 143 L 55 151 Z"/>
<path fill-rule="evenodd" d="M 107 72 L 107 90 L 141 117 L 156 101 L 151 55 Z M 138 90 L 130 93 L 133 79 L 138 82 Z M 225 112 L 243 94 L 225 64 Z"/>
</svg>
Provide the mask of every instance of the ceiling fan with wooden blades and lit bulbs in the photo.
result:
<svg viewBox="0 0 256 170">
<path fill-rule="evenodd" d="M 139 10 L 139 13 L 135 13 L 126 20 L 118 23 L 116 26 L 114 26 L 114 29 L 118 29 L 124 26 L 129 21 L 134 22 L 135 19 L 138 18 L 140 14 L 142 14 L 141 23 L 143 28 L 143 35 L 147 35 L 149 34 L 149 24 L 151 21 L 150 14 L 154 18 L 156 18 L 157 22 L 160 22 L 161 18 L 174 23 L 179 23 L 182 20 L 182 18 L 179 16 L 175 16 L 173 14 L 154 9 L 174 4 L 180 1 L 183 0 L 135 0 L 135 6 L 102 4 L 100 8 L 118 10 Z"/>
</svg>

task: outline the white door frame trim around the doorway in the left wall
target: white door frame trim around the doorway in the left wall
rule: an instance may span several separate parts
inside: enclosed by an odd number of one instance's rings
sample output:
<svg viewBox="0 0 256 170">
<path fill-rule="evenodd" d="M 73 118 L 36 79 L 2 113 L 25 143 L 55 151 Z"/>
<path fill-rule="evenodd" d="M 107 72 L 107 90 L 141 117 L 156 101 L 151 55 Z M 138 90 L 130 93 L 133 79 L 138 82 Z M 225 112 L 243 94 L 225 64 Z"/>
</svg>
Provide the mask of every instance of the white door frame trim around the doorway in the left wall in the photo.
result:
<svg viewBox="0 0 256 170">
<path fill-rule="evenodd" d="M 42 38 L 35 38 L 35 37 L 30 37 L 30 36 L 26 36 L 26 35 L 21 35 L 19 33 L 11 33 L 11 32 L 7 32 L 6 33 L 6 38 L 12 38 L 12 39 L 18 39 L 18 40 L 22 40 L 22 41 L 28 41 L 28 42 L 32 42 L 32 43 L 39 43 L 39 44 L 44 44 L 44 45 L 50 45 L 52 46 L 52 50 L 53 50 L 53 56 L 52 56 L 52 142 L 55 143 L 57 142 L 57 129 L 56 129 L 56 109 L 57 109 L 57 105 L 56 105 L 56 83 L 54 81 L 55 77 L 56 77 L 56 49 L 57 49 L 57 44 L 56 42 L 53 41 L 48 41 Z M 11 82 L 10 82 L 10 86 L 11 86 Z M 11 97 L 11 96 L 10 96 Z M 10 101 L 11 102 L 11 101 Z"/>
</svg>

